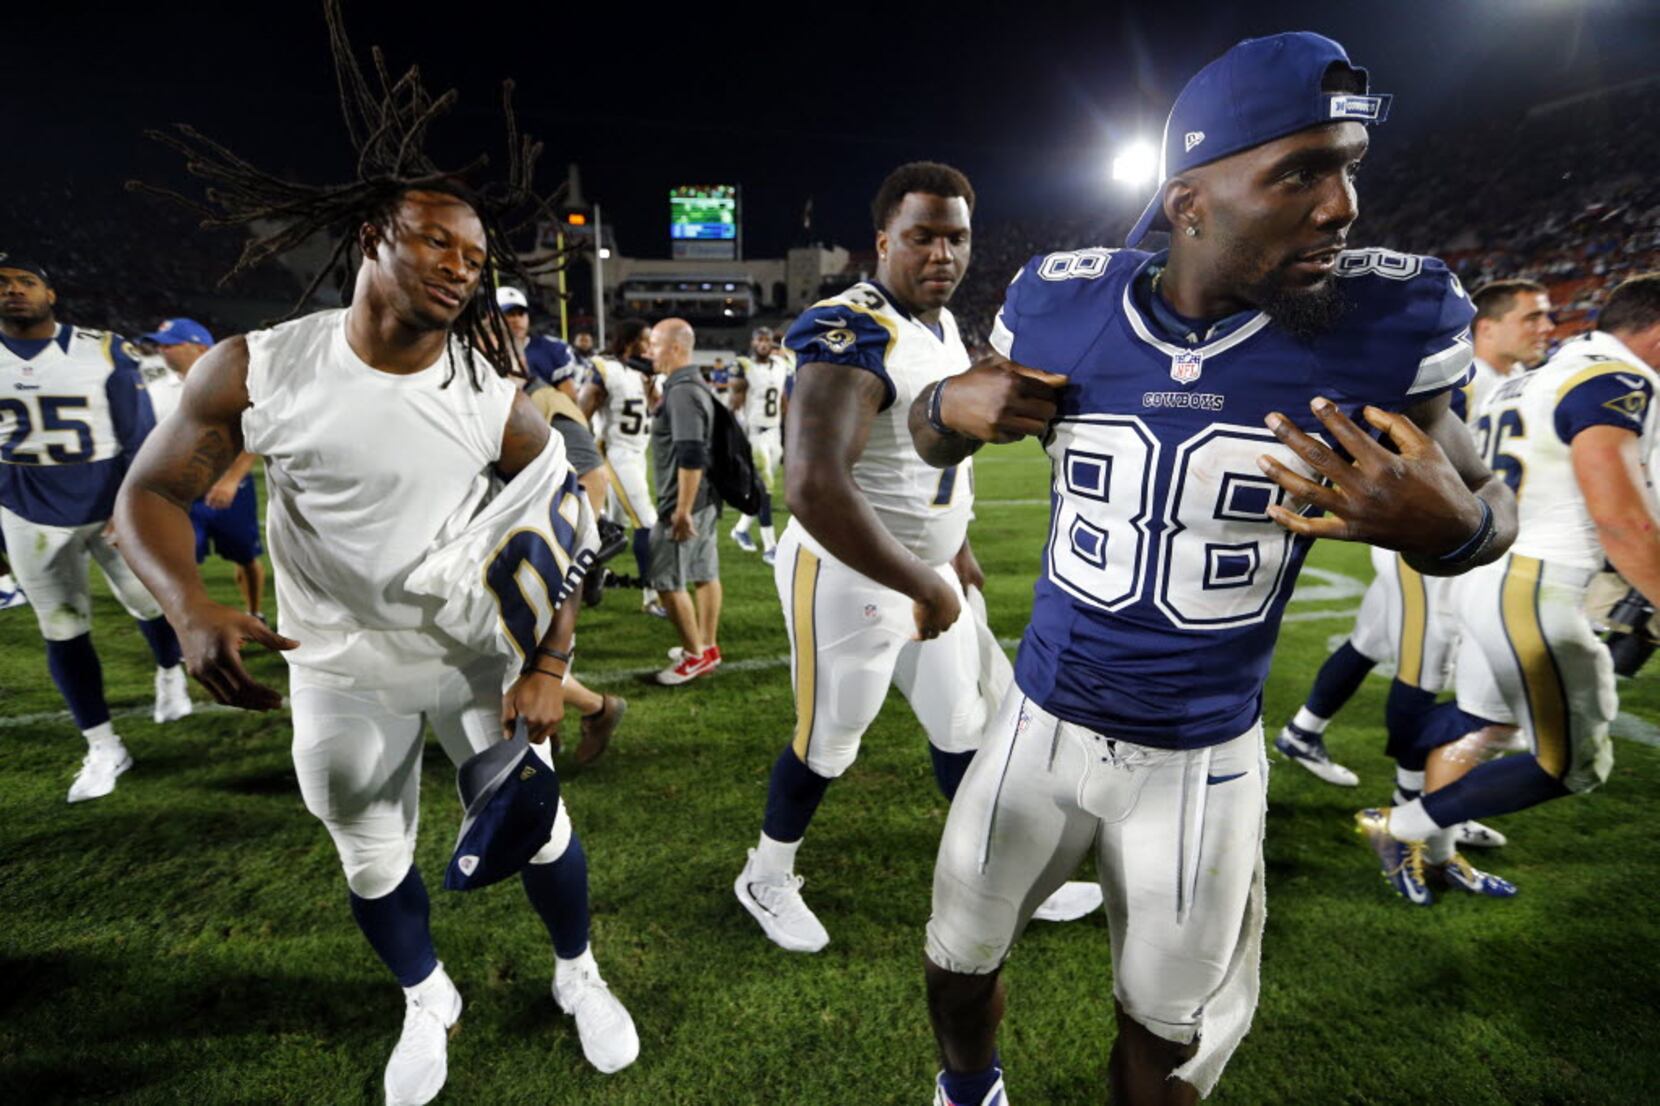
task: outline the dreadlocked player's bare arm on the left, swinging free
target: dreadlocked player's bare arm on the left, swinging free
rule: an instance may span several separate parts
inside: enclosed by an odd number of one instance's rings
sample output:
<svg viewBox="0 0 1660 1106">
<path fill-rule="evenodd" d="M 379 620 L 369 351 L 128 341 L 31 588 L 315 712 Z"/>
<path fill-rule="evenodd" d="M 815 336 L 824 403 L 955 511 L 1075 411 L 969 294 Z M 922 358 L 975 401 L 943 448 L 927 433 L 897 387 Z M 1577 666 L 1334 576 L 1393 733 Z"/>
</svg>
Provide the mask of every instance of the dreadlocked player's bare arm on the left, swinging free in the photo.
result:
<svg viewBox="0 0 1660 1106">
<path fill-rule="evenodd" d="M 269 711 L 282 694 L 242 668 L 244 641 L 292 649 L 252 614 L 214 603 L 196 570 L 189 507 L 242 452 L 247 342 L 214 345 L 191 367 L 179 409 L 144 440 L 116 497 L 120 550 L 179 634 L 184 664 L 219 702 Z"/>
</svg>

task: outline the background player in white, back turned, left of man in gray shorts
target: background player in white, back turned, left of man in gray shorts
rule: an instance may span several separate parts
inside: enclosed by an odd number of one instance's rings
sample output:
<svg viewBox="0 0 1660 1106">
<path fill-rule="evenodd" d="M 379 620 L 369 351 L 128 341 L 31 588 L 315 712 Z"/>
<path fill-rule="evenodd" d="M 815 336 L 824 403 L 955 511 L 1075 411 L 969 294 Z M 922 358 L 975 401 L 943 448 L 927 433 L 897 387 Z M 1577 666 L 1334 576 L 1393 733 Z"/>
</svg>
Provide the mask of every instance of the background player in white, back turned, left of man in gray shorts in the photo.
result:
<svg viewBox="0 0 1660 1106">
<path fill-rule="evenodd" d="M 611 352 L 594 357 L 594 367 L 578 395 L 583 414 L 599 425 L 594 437 L 611 482 L 606 513 L 626 518 L 634 530 L 631 548 L 641 580 L 649 576 L 651 528 L 657 525 L 656 500 L 646 482 L 646 447 L 651 443 L 651 410 L 656 407 L 657 389 L 654 379 L 636 367 L 649 369 L 644 360 L 649 345 L 651 330 L 644 322 L 619 319 Z M 662 609 L 651 588 L 644 590 L 641 606 L 647 611 Z"/>
</svg>

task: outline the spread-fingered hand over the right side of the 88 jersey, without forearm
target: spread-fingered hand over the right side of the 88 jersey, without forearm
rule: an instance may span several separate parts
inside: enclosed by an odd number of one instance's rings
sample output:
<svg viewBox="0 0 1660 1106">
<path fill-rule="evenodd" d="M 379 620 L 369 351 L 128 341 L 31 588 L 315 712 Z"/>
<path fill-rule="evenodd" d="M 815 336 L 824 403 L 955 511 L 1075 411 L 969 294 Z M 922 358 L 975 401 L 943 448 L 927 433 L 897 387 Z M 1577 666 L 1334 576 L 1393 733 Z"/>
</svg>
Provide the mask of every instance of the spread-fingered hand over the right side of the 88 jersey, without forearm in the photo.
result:
<svg viewBox="0 0 1660 1106">
<path fill-rule="evenodd" d="M 1310 538 L 1365 541 L 1401 553 L 1444 556 L 1486 525 L 1481 500 L 1436 440 L 1406 415 L 1378 407 L 1363 410 L 1366 422 L 1399 450 L 1394 453 L 1323 395 L 1308 407 L 1330 438 L 1355 460 L 1343 460 L 1280 412 L 1268 415 L 1275 437 L 1328 482 L 1315 483 L 1267 453 L 1257 458 L 1262 470 L 1291 497 L 1326 511 L 1323 518 L 1305 518 L 1286 507 L 1270 507 L 1268 513 L 1286 530 Z"/>
</svg>

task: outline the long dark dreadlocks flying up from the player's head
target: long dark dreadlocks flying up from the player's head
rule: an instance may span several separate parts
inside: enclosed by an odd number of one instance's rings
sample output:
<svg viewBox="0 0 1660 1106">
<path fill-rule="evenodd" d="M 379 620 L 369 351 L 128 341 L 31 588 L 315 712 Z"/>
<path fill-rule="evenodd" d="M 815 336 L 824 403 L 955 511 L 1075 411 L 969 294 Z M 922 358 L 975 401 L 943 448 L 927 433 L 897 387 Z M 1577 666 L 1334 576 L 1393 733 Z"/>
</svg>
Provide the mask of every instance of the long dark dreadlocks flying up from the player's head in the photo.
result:
<svg viewBox="0 0 1660 1106">
<path fill-rule="evenodd" d="M 334 237 L 329 261 L 310 279 L 294 307 L 276 322 L 299 316 L 329 277 L 334 277 L 340 291 L 340 302 L 350 304 L 355 272 L 362 262 L 357 237 L 364 224 L 382 228 L 390 237 L 397 229 L 397 211 L 408 193 L 455 196 L 483 223 L 486 249 L 478 289 L 450 327 L 452 337 L 458 335 L 461 340 L 447 342 L 448 372 L 443 387 L 456 377 L 458 352 L 475 389 L 483 387 L 480 357 L 500 375 L 526 375 L 525 357 L 496 306 L 495 289 L 503 277 L 516 277 L 530 286 L 535 277 L 563 269 L 574 251 L 554 252 L 526 264 L 510 246 L 511 236 L 551 216 L 564 193 L 561 184 L 543 198 L 533 188 L 531 176 L 541 156 L 541 143 L 520 135 L 513 113 L 513 81 L 501 83 L 508 139 L 506 179 L 473 186 L 468 178 L 476 176 L 488 158 L 478 156 L 458 169 L 443 169 L 425 151 L 427 130 L 455 105 L 458 93 L 452 88 L 432 95 L 415 65 L 393 80 L 378 46 L 370 48 L 375 78 L 370 83 L 345 35 L 340 0 L 324 0 L 324 18 L 329 25 L 340 113 L 357 153 L 354 179 L 344 184 L 286 181 L 188 123 L 176 123 L 171 131 L 153 130 L 146 135 L 184 156 L 184 168 L 206 181 L 203 199 L 144 181 L 128 181 L 128 191 L 181 203 L 203 218 L 204 229 L 237 228 L 246 232 L 242 254 L 219 279 L 221 287 L 237 274 L 295 249 L 314 234 Z"/>
</svg>

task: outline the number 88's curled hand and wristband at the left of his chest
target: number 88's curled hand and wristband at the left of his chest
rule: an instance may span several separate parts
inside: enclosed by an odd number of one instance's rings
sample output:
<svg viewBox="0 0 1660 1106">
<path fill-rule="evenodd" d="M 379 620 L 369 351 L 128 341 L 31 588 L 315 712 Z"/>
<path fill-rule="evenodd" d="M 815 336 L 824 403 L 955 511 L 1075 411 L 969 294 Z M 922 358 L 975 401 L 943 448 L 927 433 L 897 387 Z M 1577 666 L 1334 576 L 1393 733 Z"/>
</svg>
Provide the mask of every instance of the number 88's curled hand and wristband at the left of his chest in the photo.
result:
<svg viewBox="0 0 1660 1106">
<path fill-rule="evenodd" d="M 950 468 L 986 442 L 1044 433 L 1062 387 L 1059 374 L 1016 365 L 1001 354 L 981 357 L 966 372 L 923 389 L 908 417 L 911 442 L 925 462 Z"/>
</svg>

